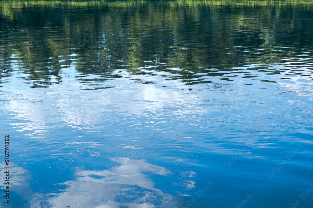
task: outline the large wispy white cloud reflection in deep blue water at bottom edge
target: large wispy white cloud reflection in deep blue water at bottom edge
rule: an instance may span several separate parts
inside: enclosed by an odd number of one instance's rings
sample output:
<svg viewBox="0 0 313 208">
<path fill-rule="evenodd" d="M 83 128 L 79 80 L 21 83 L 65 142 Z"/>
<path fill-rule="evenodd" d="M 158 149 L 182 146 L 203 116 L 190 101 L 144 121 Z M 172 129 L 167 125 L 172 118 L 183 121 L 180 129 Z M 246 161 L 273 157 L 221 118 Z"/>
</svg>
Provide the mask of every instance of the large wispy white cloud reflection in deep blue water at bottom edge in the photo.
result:
<svg viewBox="0 0 313 208">
<path fill-rule="evenodd" d="M 155 188 L 149 175 L 165 176 L 164 168 L 144 160 L 115 157 L 120 165 L 110 170 L 78 170 L 76 181 L 67 181 L 61 193 L 48 200 L 53 207 L 119 208 L 170 207 L 178 200 Z"/>
</svg>

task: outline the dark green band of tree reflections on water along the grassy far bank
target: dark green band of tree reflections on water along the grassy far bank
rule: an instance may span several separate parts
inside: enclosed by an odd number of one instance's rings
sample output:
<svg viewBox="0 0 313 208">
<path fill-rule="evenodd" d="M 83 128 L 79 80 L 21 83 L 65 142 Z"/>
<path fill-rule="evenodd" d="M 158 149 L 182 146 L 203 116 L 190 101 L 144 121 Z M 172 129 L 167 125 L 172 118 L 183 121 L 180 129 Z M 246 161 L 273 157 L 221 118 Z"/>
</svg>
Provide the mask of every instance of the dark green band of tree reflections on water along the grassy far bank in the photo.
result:
<svg viewBox="0 0 313 208">
<path fill-rule="evenodd" d="M 29 79 L 60 81 L 61 68 L 73 63 L 80 73 L 106 77 L 116 76 L 115 69 L 142 74 L 147 66 L 185 78 L 264 62 L 264 55 L 242 52 L 258 48 L 276 63 L 298 50 L 295 37 L 299 46 L 312 45 L 305 32 L 313 29 L 312 7 L 302 0 L 0 1 L 0 28 L 18 28 L 0 33 L 1 65 L 14 55 Z M 44 28 L 45 21 L 52 27 Z M 282 46 L 289 49 L 278 51 Z"/>
</svg>

